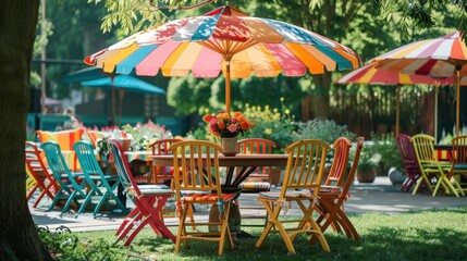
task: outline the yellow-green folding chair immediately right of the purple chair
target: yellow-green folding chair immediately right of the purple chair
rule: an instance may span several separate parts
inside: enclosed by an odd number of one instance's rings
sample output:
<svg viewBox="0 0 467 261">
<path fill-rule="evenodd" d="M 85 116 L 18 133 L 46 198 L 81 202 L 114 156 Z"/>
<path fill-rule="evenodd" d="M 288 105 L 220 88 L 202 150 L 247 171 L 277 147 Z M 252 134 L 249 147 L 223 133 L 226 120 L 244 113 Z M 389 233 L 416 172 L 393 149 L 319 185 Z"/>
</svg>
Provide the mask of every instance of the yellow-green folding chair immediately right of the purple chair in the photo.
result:
<svg viewBox="0 0 467 261">
<path fill-rule="evenodd" d="M 413 194 L 415 195 L 417 189 L 420 187 L 421 182 L 425 181 L 428 185 L 427 187 L 432 191 L 433 197 L 437 196 L 440 187 L 442 187 L 445 192 L 454 194 L 458 197 L 459 195 L 457 189 L 460 188 L 460 185 L 457 181 L 450 181 L 450 178 L 447 178 L 451 170 L 451 163 L 443 164 L 438 161 L 438 156 L 433 147 L 434 138 L 429 135 L 418 134 L 413 136 L 410 141 L 414 145 L 415 154 L 417 156 L 422 177 L 417 181 L 417 185 L 415 186 Z M 462 189 L 460 194 L 464 194 Z"/>
</svg>

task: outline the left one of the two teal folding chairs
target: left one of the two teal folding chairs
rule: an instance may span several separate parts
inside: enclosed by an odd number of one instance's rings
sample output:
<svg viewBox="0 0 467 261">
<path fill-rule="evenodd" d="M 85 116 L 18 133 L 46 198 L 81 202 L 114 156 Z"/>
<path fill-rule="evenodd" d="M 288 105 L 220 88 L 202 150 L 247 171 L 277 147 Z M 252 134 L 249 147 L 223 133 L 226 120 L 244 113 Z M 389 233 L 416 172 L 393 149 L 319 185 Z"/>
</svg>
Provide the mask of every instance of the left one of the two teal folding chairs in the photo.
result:
<svg viewBox="0 0 467 261">
<path fill-rule="evenodd" d="M 66 213 L 71 203 L 75 202 L 79 210 L 76 216 L 83 212 L 84 207 L 78 202 L 78 198 L 86 198 L 85 185 L 86 179 L 83 173 L 71 172 L 66 165 L 65 159 L 63 158 L 62 150 L 59 144 L 56 141 L 46 141 L 40 148 L 46 153 L 47 162 L 52 175 L 60 185 L 60 189 L 57 191 L 52 203 L 49 207 L 49 211 L 52 210 L 59 200 L 66 200 L 66 203 L 62 208 L 62 214 Z"/>
</svg>

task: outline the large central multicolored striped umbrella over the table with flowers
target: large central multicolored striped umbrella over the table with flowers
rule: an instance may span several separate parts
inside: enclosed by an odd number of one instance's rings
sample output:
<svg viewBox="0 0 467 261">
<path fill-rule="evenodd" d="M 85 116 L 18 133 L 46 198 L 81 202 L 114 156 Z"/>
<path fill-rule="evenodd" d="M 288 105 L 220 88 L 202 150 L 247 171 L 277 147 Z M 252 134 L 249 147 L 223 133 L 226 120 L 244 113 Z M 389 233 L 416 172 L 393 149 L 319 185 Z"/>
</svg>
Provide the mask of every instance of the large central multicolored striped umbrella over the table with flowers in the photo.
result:
<svg viewBox="0 0 467 261">
<path fill-rule="evenodd" d="M 153 76 L 225 76 L 230 112 L 230 78 L 275 77 L 352 70 L 360 59 L 349 48 L 284 22 L 251 17 L 224 5 L 201 16 L 168 22 L 85 59 L 106 73 Z"/>
</svg>

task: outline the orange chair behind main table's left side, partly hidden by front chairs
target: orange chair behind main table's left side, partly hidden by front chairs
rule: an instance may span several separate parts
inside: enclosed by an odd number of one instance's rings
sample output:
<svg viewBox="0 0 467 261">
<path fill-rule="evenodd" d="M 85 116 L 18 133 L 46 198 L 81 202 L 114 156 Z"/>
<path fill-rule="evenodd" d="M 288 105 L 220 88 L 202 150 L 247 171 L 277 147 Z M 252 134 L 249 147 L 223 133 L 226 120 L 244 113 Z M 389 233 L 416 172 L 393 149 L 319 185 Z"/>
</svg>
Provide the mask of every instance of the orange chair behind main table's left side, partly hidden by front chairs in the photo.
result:
<svg viewBox="0 0 467 261">
<path fill-rule="evenodd" d="M 149 145 L 149 148 L 151 148 L 151 152 L 153 156 L 157 154 L 169 154 L 170 147 L 179 141 L 182 141 L 182 138 L 167 138 L 167 139 L 158 139 Z M 164 184 L 170 187 L 170 189 L 175 190 L 175 183 L 173 181 L 173 167 L 168 166 L 158 166 L 158 165 L 151 165 L 151 172 L 150 172 L 150 183 L 151 184 Z M 176 211 L 175 207 L 175 197 L 171 197 L 165 202 L 165 206 L 161 210 L 162 215 L 162 222 L 163 217 L 177 217 L 179 212 Z M 172 207 L 172 204 L 169 206 L 169 203 L 173 203 L 173 209 L 168 208 Z M 193 217 L 193 209 L 188 210 L 188 216 L 194 221 Z M 195 229 L 195 227 L 193 227 Z"/>
</svg>

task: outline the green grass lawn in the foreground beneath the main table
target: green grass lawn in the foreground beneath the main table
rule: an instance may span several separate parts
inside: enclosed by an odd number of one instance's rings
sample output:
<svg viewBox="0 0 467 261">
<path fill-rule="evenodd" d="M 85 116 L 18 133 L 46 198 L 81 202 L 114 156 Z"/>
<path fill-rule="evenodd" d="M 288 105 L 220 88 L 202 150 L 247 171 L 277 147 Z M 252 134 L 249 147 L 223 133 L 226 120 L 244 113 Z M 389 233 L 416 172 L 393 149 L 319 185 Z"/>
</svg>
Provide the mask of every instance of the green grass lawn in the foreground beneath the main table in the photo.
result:
<svg viewBox="0 0 467 261">
<path fill-rule="evenodd" d="M 59 238 L 45 233 L 44 240 L 66 249 L 62 260 L 465 260 L 467 208 L 349 216 L 361 240 L 347 239 L 330 229 L 325 233 L 330 253 L 323 252 L 319 244 L 309 245 L 305 235 L 295 240 L 295 256 L 287 254 L 279 235 L 269 236 L 256 249 L 261 233 L 258 227 L 245 227 L 255 238 L 242 239 L 239 249 L 225 248 L 221 259 L 217 245 L 208 241 L 191 241 L 191 249 L 182 246 L 180 256 L 174 254 L 172 241 L 155 236 L 148 228 L 130 247 L 114 244 L 114 231 L 62 233 Z M 175 234 L 175 227 L 171 229 Z"/>
</svg>

